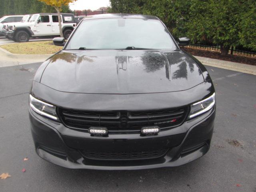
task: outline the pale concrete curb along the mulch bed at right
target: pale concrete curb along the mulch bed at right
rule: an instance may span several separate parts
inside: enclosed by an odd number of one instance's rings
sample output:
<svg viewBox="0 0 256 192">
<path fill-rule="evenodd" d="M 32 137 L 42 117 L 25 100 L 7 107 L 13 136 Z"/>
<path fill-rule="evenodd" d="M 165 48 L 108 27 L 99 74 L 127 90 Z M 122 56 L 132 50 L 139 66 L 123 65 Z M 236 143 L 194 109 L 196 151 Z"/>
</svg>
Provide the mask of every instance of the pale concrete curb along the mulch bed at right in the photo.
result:
<svg viewBox="0 0 256 192">
<path fill-rule="evenodd" d="M 218 67 L 222 69 L 228 69 L 228 70 L 239 71 L 243 73 L 256 75 L 256 66 L 254 65 L 242 64 L 242 63 L 236 63 L 231 61 L 224 61 L 224 60 L 218 60 L 218 59 L 212 59 L 212 58 L 206 58 L 206 57 L 200 57 L 200 56 L 194 56 L 194 57 L 197 58 L 204 65 L 209 65 L 209 66 Z"/>
</svg>

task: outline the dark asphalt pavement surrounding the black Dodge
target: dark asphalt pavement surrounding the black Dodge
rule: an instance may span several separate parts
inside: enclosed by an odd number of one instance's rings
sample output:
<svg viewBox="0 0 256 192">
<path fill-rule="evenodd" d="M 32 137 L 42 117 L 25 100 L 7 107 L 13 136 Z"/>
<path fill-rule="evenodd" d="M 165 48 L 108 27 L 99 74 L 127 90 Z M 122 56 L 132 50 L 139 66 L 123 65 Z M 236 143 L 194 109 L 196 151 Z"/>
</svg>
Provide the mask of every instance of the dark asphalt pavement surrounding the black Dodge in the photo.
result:
<svg viewBox="0 0 256 192">
<path fill-rule="evenodd" d="M 0 180 L 0 191 L 256 192 L 256 76 L 206 67 L 217 113 L 211 148 L 202 158 L 174 168 L 70 170 L 34 151 L 28 92 L 39 65 L 0 68 L 0 174 L 11 175 Z"/>
</svg>

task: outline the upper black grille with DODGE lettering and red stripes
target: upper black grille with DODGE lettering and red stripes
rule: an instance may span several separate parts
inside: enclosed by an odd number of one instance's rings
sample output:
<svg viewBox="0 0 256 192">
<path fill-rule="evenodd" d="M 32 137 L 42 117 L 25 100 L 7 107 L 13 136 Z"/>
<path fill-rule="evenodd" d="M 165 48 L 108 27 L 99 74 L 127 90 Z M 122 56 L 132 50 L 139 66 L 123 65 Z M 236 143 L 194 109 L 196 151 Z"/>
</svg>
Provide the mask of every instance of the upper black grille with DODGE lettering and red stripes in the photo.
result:
<svg viewBox="0 0 256 192">
<path fill-rule="evenodd" d="M 168 129 L 184 122 L 188 107 L 148 111 L 82 111 L 58 108 L 65 126 L 88 131 L 90 127 L 106 127 L 109 134 L 140 132 L 144 126 Z"/>
</svg>

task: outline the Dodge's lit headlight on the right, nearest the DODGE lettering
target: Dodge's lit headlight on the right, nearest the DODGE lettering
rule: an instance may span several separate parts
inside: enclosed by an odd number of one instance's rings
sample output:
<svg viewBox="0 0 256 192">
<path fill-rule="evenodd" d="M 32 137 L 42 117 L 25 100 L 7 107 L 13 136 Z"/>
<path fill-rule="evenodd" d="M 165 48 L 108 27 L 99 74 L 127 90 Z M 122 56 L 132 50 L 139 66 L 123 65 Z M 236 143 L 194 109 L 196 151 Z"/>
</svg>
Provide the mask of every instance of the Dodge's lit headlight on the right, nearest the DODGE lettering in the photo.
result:
<svg viewBox="0 0 256 192">
<path fill-rule="evenodd" d="M 192 104 L 190 107 L 190 114 L 188 118 L 196 117 L 204 112 L 210 110 L 215 104 L 215 93 L 212 94 L 210 97 Z"/>
</svg>

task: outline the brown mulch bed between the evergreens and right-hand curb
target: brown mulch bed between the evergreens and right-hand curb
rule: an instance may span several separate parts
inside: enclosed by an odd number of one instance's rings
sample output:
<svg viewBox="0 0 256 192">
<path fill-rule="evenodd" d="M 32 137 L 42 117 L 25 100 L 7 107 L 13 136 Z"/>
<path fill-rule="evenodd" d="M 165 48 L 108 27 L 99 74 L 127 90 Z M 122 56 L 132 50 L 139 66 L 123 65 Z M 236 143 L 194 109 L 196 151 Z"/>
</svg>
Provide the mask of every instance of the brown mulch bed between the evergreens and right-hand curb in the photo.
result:
<svg viewBox="0 0 256 192">
<path fill-rule="evenodd" d="M 190 48 L 190 47 L 182 47 L 181 49 L 194 56 L 208 57 L 213 59 L 220 59 L 225 61 L 232 61 L 232 62 L 244 63 L 244 64 L 256 66 L 256 57 L 246 57 L 246 56 L 240 56 L 240 55 L 238 56 L 238 55 L 230 55 L 230 54 L 226 56 L 222 56 L 218 51 L 202 50 L 202 49 Z"/>
</svg>

